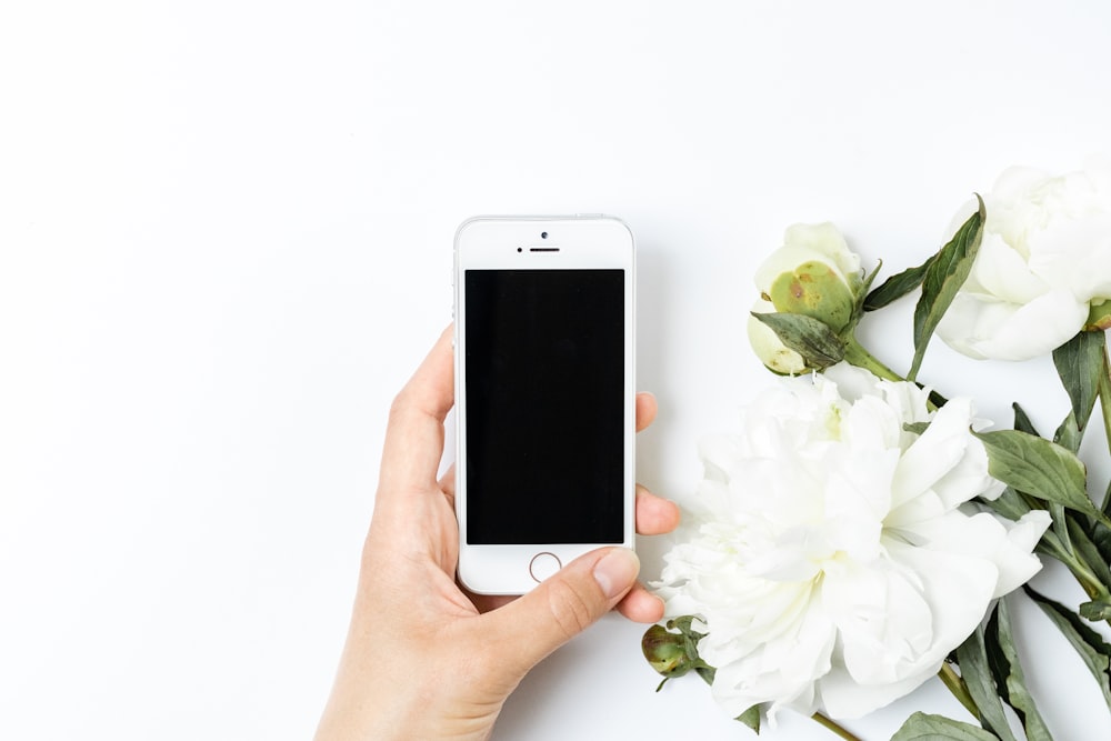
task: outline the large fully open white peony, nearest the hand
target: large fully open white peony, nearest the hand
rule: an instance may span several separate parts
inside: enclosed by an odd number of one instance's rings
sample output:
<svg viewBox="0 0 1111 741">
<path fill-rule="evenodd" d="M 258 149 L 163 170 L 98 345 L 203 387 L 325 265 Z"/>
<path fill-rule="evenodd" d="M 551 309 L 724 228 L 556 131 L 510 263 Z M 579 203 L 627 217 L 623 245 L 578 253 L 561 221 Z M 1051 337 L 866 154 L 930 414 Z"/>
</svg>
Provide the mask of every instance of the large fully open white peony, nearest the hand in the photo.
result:
<svg viewBox="0 0 1111 741">
<path fill-rule="evenodd" d="M 691 538 L 654 587 L 669 617 L 708 625 L 699 653 L 731 717 L 883 707 L 1041 568 L 1047 512 L 1014 523 L 960 509 L 1002 491 L 972 423 L 968 400 L 931 413 L 917 385 L 841 363 L 781 379 L 740 434 L 704 441 Z"/>
</svg>

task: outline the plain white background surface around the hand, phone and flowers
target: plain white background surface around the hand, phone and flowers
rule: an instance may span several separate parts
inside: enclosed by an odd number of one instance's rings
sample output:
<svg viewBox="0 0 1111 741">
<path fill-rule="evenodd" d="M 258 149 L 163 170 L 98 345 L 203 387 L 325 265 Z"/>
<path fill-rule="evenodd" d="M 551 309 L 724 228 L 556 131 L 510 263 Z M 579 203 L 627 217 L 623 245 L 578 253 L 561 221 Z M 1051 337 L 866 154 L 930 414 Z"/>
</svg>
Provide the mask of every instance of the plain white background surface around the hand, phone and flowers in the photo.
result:
<svg viewBox="0 0 1111 741">
<path fill-rule="evenodd" d="M 885 276 L 1004 167 L 1108 151 L 1109 32 L 1097 2 L 6 3 L 0 738 L 311 735 L 464 218 L 632 227 L 638 471 L 681 502 L 698 438 L 771 381 L 744 321 L 783 229 L 834 220 Z M 905 370 L 910 304 L 887 313 L 863 336 Z M 1051 367 L 1019 370 L 937 347 L 921 378 L 1052 429 Z M 1111 737 L 1071 649 L 1017 621 L 1057 738 Z M 494 738 L 751 738 L 698 679 L 654 694 L 641 631 L 553 655 Z M 967 719 L 931 682 L 848 725 L 915 709 Z"/>
</svg>

